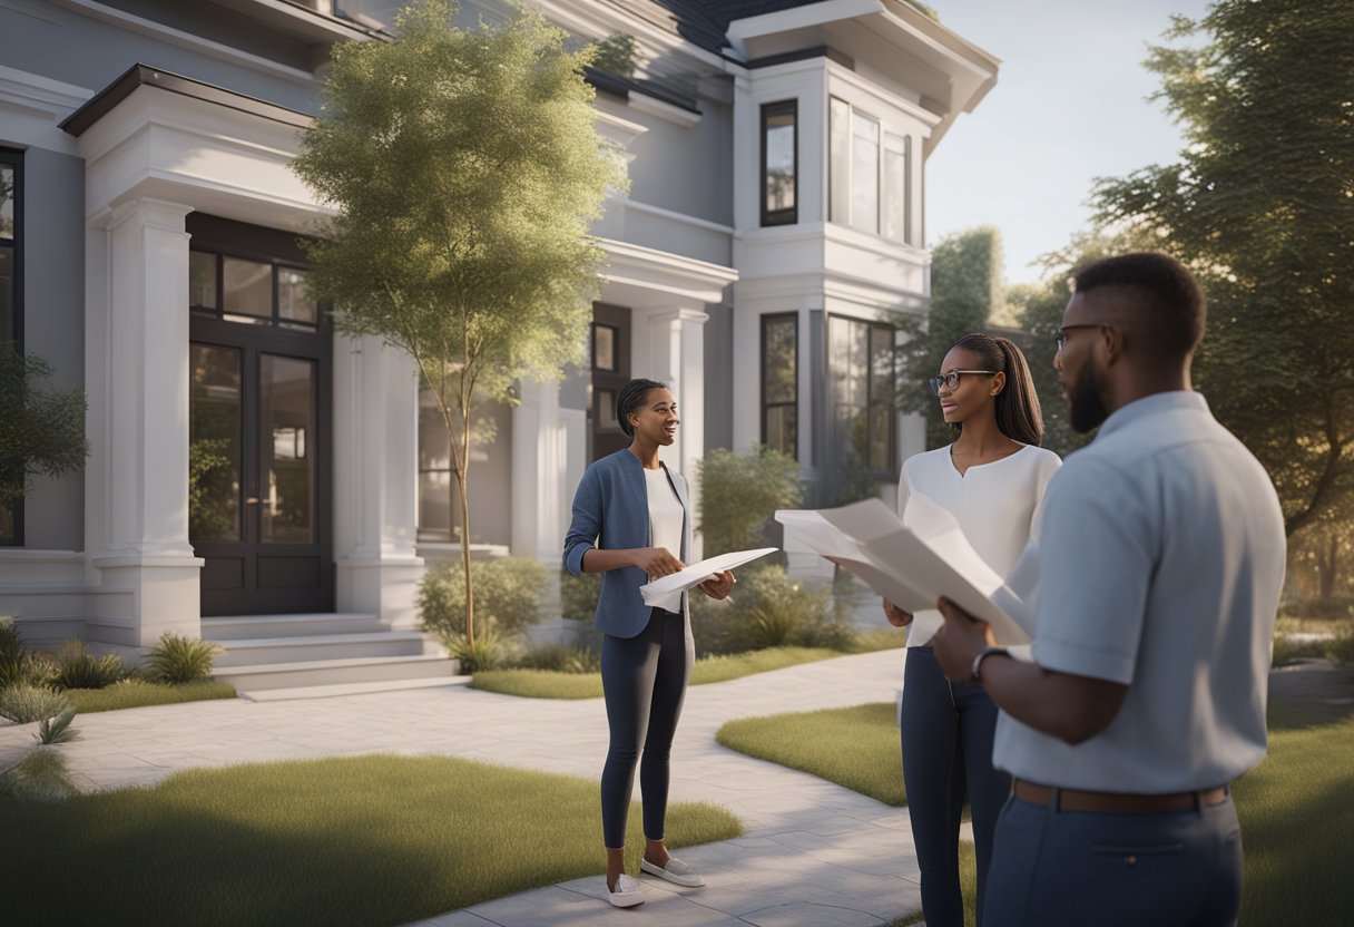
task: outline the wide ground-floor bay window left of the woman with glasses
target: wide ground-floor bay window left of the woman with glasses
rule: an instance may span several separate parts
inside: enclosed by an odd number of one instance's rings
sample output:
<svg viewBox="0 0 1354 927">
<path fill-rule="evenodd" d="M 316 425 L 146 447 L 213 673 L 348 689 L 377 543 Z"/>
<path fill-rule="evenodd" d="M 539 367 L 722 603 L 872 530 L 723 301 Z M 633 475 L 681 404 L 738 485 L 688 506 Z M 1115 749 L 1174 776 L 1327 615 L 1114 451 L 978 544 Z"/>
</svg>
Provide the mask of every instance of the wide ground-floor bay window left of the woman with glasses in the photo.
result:
<svg viewBox="0 0 1354 927">
<path fill-rule="evenodd" d="M 894 470 L 894 328 L 833 316 L 827 323 L 838 469 Z"/>
</svg>

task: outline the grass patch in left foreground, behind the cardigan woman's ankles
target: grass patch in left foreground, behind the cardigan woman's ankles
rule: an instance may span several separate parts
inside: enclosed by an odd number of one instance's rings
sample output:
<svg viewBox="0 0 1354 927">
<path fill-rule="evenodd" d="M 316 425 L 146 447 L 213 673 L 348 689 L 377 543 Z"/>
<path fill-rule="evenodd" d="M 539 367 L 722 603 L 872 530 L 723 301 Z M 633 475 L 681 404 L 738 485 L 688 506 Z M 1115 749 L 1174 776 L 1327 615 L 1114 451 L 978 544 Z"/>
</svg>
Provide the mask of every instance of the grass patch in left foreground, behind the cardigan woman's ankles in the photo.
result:
<svg viewBox="0 0 1354 927">
<path fill-rule="evenodd" d="M 605 869 L 596 782 L 441 756 L 194 770 L 0 816 L 22 847 L 5 920 L 32 927 L 405 924 Z M 669 809 L 673 847 L 739 832 L 720 808 Z"/>
</svg>

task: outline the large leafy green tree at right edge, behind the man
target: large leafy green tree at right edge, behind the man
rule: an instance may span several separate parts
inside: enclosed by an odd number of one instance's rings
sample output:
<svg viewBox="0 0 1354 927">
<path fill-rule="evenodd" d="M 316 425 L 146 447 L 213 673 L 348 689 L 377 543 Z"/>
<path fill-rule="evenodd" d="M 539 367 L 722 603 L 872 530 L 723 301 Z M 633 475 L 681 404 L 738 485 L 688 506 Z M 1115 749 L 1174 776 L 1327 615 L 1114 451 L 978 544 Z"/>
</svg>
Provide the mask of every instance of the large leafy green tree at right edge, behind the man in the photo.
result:
<svg viewBox="0 0 1354 927">
<path fill-rule="evenodd" d="M 1265 465 L 1292 535 L 1354 495 L 1354 4 L 1219 0 L 1167 41 L 1192 45 L 1147 66 L 1187 146 L 1101 182 L 1098 211 L 1200 274 L 1197 386 Z"/>
</svg>

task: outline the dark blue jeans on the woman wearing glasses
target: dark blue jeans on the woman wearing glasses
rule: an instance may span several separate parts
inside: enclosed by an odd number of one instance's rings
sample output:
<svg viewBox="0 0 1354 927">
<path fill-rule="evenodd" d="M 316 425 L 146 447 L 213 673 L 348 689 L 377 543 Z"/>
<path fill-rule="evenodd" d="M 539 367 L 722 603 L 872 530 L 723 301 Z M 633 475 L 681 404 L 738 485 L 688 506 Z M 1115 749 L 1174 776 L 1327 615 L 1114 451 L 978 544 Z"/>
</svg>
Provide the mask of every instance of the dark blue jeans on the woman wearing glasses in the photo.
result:
<svg viewBox="0 0 1354 927">
<path fill-rule="evenodd" d="M 926 927 L 963 927 L 959 823 L 968 796 L 978 861 L 978 923 L 992 835 L 1011 781 L 992 767 L 997 706 L 980 684 L 952 683 L 929 646 L 907 648 L 902 706 L 903 783 L 922 870 Z"/>
</svg>

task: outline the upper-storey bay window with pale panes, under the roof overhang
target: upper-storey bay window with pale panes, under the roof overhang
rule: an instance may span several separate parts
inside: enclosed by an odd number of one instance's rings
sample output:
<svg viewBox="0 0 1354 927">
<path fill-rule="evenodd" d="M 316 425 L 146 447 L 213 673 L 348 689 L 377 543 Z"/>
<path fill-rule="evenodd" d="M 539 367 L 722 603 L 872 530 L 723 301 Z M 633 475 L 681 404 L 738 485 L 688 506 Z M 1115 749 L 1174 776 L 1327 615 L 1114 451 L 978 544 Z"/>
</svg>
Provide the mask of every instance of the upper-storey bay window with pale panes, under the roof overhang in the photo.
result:
<svg viewBox="0 0 1354 927">
<path fill-rule="evenodd" d="M 835 96 L 827 131 L 829 221 L 910 244 L 911 137 Z"/>
</svg>

